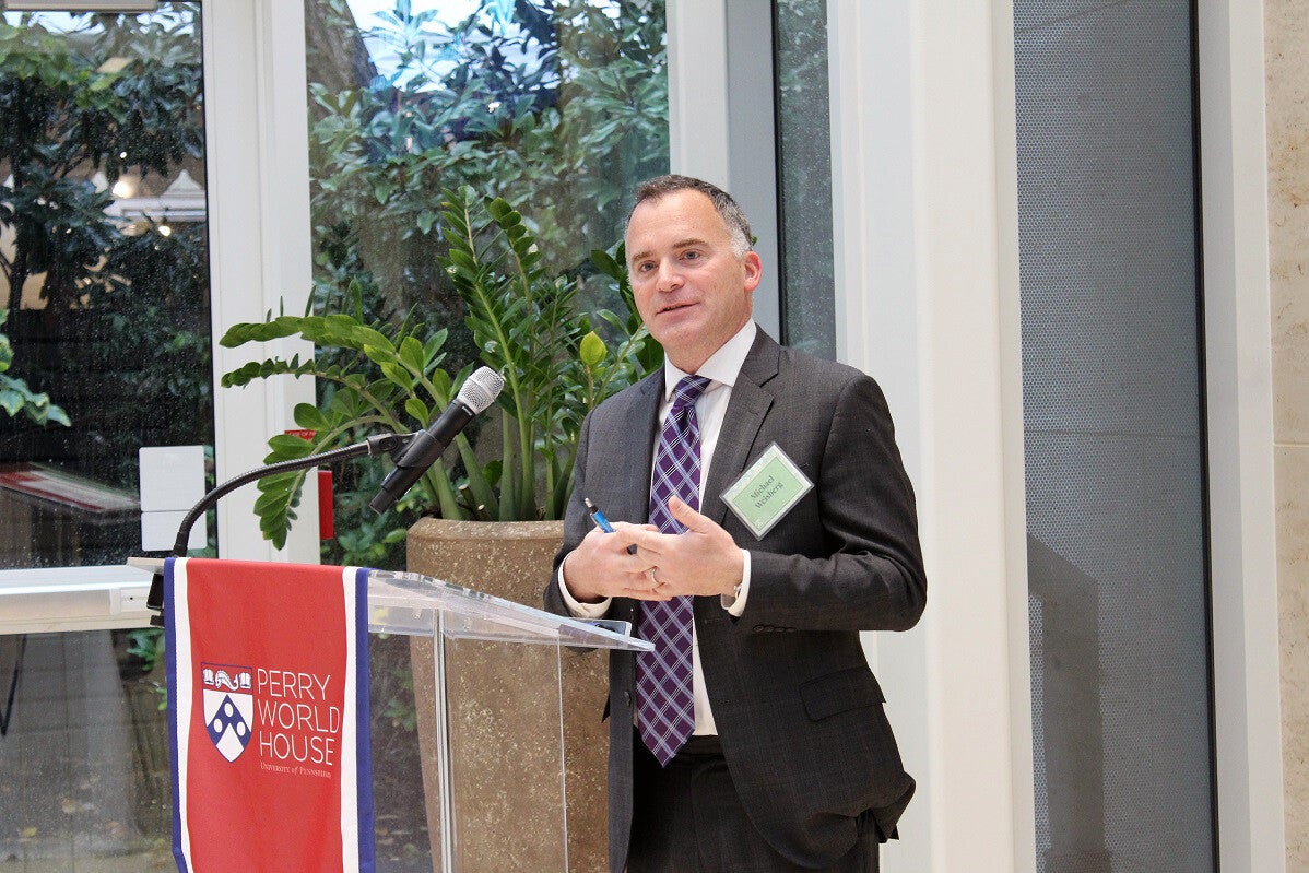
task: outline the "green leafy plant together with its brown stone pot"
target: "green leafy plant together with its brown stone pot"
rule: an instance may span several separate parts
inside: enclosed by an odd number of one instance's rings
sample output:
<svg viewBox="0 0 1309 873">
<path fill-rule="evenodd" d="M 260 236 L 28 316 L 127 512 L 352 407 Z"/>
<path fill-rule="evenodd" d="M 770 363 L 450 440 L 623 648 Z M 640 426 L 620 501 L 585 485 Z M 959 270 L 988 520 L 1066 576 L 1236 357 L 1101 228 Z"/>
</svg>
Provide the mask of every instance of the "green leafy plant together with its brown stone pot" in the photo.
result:
<svg viewBox="0 0 1309 873">
<path fill-rule="evenodd" d="M 617 285 L 627 312 L 619 315 L 600 309 L 594 318 L 602 323 L 593 323 L 579 305 L 580 277 L 551 272 L 542 264 L 534 234 L 504 200 L 478 198 L 469 188 L 446 191 L 440 232 L 448 245 L 440 263 L 467 309 L 466 323 L 480 363 L 500 372 L 505 387 L 495 407 L 497 415 L 480 433 L 456 438 L 450 454 L 457 459 L 450 466 L 435 466 L 410 492 L 410 503 L 439 517 L 424 517 L 408 529 L 408 568 L 537 605 L 563 537 L 560 520 L 572 487 L 583 418 L 606 397 L 660 366 L 662 351 L 636 314 L 620 246 L 614 255 L 593 251 L 590 262 Z M 313 376 L 323 385 L 317 404 L 295 410 L 296 423 L 314 436 L 272 437 L 270 462 L 344 445 L 355 441 L 361 428 L 404 432 L 425 427 L 471 372 L 474 364 L 453 374 L 446 369 L 445 330 L 425 334 L 410 317 L 395 326 L 367 323 L 364 293 L 364 288 L 355 288 L 353 314 L 283 315 L 237 325 L 223 338 L 224 346 L 234 347 L 298 335 L 319 349 L 308 360 L 274 357 L 250 363 L 223 380 L 225 386 L 233 386 L 291 374 Z M 603 340 L 596 327 L 605 330 L 610 340 Z M 304 474 L 287 474 L 259 484 L 255 510 L 262 530 L 275 542 L 285 541 L 302 483 Z M 505 675 L 507 665 L 493 662 L 505 657 L 503 650 L 492 649 L 480 657 L 480 664 L 476 657 L 461 661 L 450 678 L 450 695 L 459 698 Z M 423 742 L 435 732 L 429 721 L 435 682 L 431 649 L 415 645 L 412 664 Z M 606 743 L 596 719 L 606 692 L 603 669 L 602 658 L 569 658 L 564 666 L 569 707 L 568 827 L 571 856 L 581 869 L 598 869 L 603 863 Z M 511 709 L 488 716 L 480 708 L 470 712 L 458 730 L 471 747 L 487 749 L 500 747 L 507 736 L 539 736 L 530 705 L 517 713 Z M 452 717 L 459 719 L 459 713 Z M 518 770 L 533 766 L 521 757 L 522 747 L 531 743 L 514 745 L 520 757 L 479 762 L 476 784 L 463 789 L 474 792 L 465 793 L 466 808 L 499 817 L 486 822 L 486 832 L 521 828 L 524 822 L 538 818 L 531 810 L 541 801 L 517 776 Z M 541 749 L 541 754 L 546 759 L 538 766 L 548 770 L 548 750 Z M 427 751 L 423 757 L 424 783 L 433 796 L 435 757 Z M 552 766 L 558 768 L 558 758 Z M 496 775 L 497 767 L 504 772 Z M 512 801 L 507 801 L 509 796 Z M 429 821 L 436 811 L 436 804 L 428 804 Z M 429 834 L 437 832 L 432 821 Z M 465 842 L 459 846 L 461 869 L 512 869 L 509 859 L 499 857 L 503 851 L 492 843 Z"/>
</svg>

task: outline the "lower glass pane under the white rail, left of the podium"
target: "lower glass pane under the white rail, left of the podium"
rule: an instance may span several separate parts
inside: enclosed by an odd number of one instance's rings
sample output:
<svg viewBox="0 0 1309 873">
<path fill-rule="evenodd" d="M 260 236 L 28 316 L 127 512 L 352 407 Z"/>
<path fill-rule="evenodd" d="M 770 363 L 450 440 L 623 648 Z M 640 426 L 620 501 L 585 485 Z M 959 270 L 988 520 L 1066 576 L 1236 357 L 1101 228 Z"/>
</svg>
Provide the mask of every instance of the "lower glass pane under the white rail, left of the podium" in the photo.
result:
<svg viewBox="0 0 1309 873">
<path fill-rule="evenodd" d="M 0 636 L 0 866 L 171 863 L 164 664 L 139 633 Z"/>
</svg>

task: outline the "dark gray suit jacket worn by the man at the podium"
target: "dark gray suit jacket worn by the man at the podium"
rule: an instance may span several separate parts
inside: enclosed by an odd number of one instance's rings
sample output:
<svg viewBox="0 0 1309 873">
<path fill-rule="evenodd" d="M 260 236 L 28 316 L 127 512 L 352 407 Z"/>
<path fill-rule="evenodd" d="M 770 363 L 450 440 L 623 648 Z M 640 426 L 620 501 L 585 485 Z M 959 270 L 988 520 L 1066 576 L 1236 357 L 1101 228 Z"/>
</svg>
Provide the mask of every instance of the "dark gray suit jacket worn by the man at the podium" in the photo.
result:
<svg viewBox="0 0 1309 873">
<path fill-rule="evenodd" d="M 660 370 L 583 424 L 555 579 L 590 526 L 583 497 L 613 520 L 647 520 L 662 386 Z M 755 539 L 720 496 L 772 442 L 814 488 Z M 759 330 L 702 491 L 702 512 L 750 551 L 740 619 L 717 597 L 695 598 L 728 770 L 774 848 L 800 865 L 829 865 L 853 847 L 860 827 L 890 835 L 914 793 L 859 643 L 859 631 L 912 627 L 927 594 L 914 495 L 881 390 L 859 370 L 781 348 Z M 546 607 L 567 614 L 556 584 L 546 586 Z M 615 598 L 609 618 L 635 626 L 637 610 L 637 601 Z M 610 656 L 614 873 L 631 832 L 635 677 L 635 656 Z"/>
</svg>

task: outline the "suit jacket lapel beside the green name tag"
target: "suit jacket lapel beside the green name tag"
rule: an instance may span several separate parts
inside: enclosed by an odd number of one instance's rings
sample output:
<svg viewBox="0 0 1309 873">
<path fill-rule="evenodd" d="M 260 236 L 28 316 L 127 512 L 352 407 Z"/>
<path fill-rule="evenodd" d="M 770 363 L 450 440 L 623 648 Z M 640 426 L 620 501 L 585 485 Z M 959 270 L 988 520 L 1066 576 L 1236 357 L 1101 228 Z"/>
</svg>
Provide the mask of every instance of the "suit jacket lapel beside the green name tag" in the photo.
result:
<svg viewBox="0 0 1309 873">
<path fill-rule="evenodd" d="M 721 500 L 721 495 L 745 471 L 750 449 L 759 436 L 764 416 L 772 407 L 772 394 L 763 386 L 778 374 L 780 355 L 781 347 L 759 330 L 750 353 L 741 365 L 741 374 L 732 386 L 732 399 L 728 401 L 723 431 L 719 433 L 719 444 L 709 463 L 709 480 L 704 486 L 700 501 L 700 512 L 719 525 L 728 514 L 728 505 Z"/>
</svg>

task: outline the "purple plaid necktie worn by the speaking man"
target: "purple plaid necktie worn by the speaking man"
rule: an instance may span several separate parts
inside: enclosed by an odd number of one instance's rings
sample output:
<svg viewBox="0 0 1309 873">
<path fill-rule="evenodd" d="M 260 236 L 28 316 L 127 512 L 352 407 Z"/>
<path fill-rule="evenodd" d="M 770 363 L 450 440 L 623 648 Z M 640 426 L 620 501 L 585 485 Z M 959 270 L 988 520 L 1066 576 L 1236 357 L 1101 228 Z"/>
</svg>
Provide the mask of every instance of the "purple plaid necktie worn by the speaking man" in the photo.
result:
<svg viewBox="0 0 1309 873">
<path fill-rule="evenodd" d="M 651 483 L 651 524 L 661 533 L 681 534 L 668 510 L 669 497 L 700 508 L 700 423 L 695 401 L 709 380 L 687 376 L 673 389 L 673 408 L 654 450 Z M 641 652 L 636 670 L 636 724 L 641 739 L 658 762 L 668 766 L 695 729 L 691 698 L 691 598 L 648 601 L 641 606 L 641 637 L 654 644 Z"/>
</svg>

